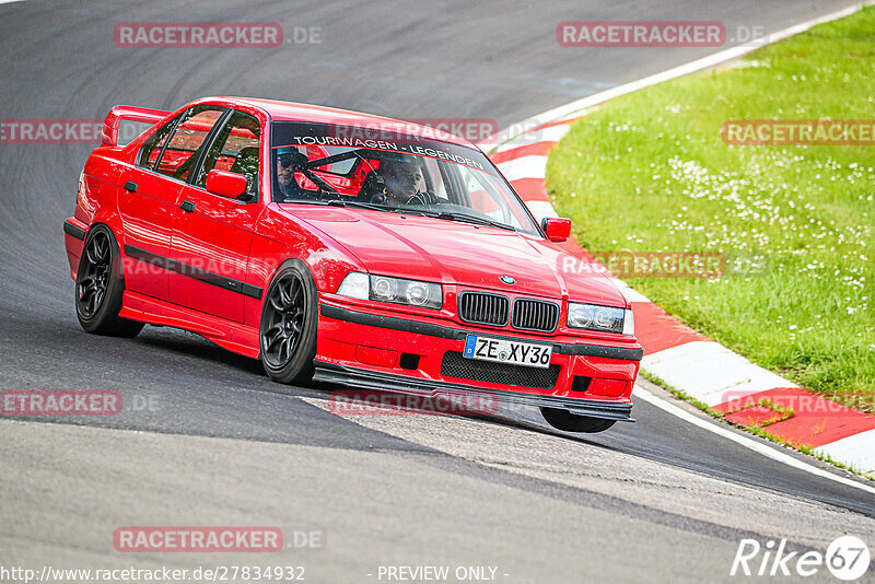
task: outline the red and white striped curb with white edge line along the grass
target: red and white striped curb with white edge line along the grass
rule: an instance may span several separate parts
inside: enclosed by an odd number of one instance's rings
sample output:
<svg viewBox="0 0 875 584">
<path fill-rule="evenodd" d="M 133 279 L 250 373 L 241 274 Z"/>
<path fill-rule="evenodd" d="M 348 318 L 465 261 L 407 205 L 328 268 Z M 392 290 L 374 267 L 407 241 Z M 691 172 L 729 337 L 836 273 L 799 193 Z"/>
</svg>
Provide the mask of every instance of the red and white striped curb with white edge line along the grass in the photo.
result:
<svg viewBox="0 0 875 584">
<path fill-rule="evenodd" d="M 845 16 L 860 8 L 862 4 L 781 31 L 770 35 L 769 42 Z M 547 156 L 587 108 L 618 95 L 737 58 L 758 46 L 734 47 L 551 109 L 516 125 L 517 128 L 528 128 L 518 136 L 480 145 L 488 150 L 499 144 L 491 153 L 493 162 L 538 221 L 545 217 L 557 217 L 545 186 Z M 574 242 L 568 242 L 563 247 L 574 256 L 593 260 Z M 644 347 L 641 362 L 644 372 L 724 412 L 726 419 L 734 423 L 743 427 L 766 423 L 763 429 L 768 433 L 791 444 L 814 448 L 817 454 L 875 478 L 875 416 L 827 400 L 751 363 L 670 317 L 626 282 L 618 279 L 614 281 L 632 304 L 635 335 Z"/>
</svg>

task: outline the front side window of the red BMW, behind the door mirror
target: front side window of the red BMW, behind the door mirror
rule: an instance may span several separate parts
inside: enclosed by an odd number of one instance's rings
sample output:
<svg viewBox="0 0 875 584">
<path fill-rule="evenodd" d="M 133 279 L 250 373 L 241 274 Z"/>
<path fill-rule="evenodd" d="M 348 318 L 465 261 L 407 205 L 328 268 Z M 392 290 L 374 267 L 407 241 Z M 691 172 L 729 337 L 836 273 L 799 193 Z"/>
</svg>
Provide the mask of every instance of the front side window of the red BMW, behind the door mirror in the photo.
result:
<svg viewBox="0 0 875 584">
<path fill-rule="evenodd" d="M 258 143 L 261 129 L 249 114 L 234 112 L 219 131 L 195 184 L 207 186 L 212 170 L 230 171 L 246 177 L 247 192 L 258 195 Z"/>
</svg>

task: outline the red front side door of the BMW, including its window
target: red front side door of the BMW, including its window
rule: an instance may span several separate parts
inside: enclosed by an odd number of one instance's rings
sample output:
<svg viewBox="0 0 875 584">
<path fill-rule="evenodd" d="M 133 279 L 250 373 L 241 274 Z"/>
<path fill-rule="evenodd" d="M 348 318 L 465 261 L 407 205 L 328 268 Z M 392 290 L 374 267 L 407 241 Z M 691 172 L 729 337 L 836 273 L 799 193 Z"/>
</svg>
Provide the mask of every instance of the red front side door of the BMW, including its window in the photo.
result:
<svg viewBox="0 0 875 584">
<path fill-rule="evenodd" d="M 171 302 L 242 323 L 245 296 L 260 296 L 260 291 L 245 284 L 253 229 L 262 209 L 260 136 L 254 116 L 234 110 L 210 137 L 196 176 L 183 185 L 171 236 L 171 257 L 178 267 L 168 277 Z M 249 200 L 207 191 L 212 170 L 245 175 L 247 191 L 242 198 Z"/>
</svg>

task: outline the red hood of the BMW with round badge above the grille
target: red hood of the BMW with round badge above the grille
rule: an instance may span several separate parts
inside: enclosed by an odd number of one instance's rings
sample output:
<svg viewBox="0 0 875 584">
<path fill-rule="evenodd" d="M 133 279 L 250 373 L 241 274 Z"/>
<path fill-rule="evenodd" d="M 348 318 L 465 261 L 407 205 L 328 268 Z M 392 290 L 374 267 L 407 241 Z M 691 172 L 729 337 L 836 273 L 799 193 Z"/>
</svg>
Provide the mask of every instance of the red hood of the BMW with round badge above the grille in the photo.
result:
<svg viewBox="0 0 875 584">
<path fill-rule="evenodd" d="M 626 306 L 606 277 L 563 270 L 576 258 L 540 237 L 420 215 L 280 207 L 334 238 L 372 273 Z M 515 284 L 503 283 L 501 276 L 510 276 Z"/>
</svg>

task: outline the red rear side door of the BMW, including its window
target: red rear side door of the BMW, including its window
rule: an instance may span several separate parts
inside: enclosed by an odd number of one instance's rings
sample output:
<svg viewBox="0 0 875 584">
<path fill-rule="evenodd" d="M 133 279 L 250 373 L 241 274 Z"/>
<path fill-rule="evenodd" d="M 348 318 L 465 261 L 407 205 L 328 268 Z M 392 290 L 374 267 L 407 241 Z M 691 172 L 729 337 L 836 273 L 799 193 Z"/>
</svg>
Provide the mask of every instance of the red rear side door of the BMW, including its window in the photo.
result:
<svg viewBox="0 0 875 584">
<path fill-rule="evenodd" d="M 131 260 L 125 266 L 128 290 L 170 300 L 171 235 L 186 165 L 194 164 L 195 154 L 225 110 L 211 105 L 187 109 L 145 141 L 136 165 L 122 170 L 118 208 L 125 256 Z"/>
</svg>

